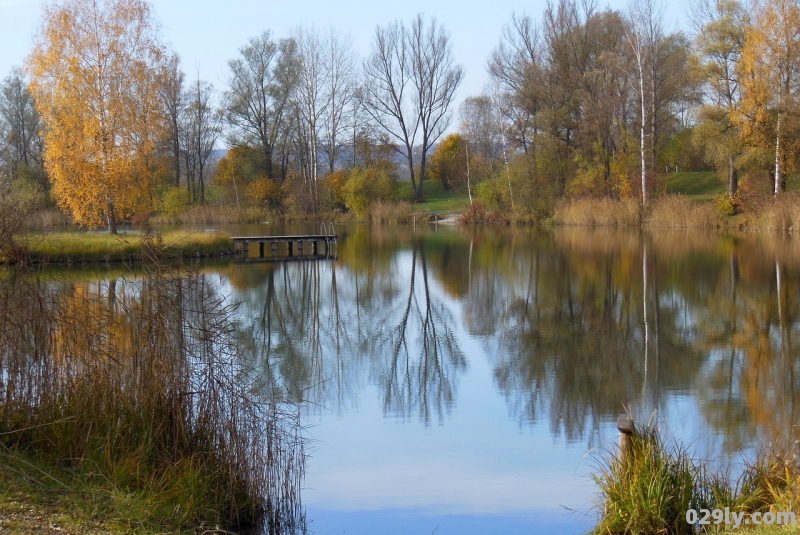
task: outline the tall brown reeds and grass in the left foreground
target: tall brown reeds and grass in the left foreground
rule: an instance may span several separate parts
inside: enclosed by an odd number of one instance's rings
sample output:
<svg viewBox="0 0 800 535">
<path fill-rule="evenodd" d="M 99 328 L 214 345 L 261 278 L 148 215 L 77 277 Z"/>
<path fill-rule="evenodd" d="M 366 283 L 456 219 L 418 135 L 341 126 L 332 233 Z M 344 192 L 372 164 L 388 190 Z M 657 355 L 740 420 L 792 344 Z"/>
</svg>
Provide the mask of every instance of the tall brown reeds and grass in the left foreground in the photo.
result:
<svg viewBox="0 0 800 535">
<path fill-rule="evenodd" d="M 217 289 L 142 254 L 130 279 L 0 283 L 0 443 L 141 496 L 130 522 L 303 532 L 296 411 L 256 388 Z"/>
</svg>

